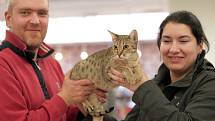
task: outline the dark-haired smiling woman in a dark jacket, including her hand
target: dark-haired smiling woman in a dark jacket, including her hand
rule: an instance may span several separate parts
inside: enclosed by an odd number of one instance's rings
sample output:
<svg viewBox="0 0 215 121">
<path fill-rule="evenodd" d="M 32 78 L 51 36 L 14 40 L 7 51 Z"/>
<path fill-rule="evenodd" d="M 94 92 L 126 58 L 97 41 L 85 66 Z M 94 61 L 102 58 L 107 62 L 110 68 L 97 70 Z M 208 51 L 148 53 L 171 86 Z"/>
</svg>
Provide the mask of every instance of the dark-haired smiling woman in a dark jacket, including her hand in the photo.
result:
<svg viewBox="0 0 215 121">
<path fill-rule="evenodd" d="M 134 91 L 136 105 L 124 121 L 215 121 L 215 69 L 205 59 L 209 42 L 198 18 L 189 11 L 171 13 L 160 25 L 157 45 L 163 64 L 153 79 L 128 85 L 120 72 L 109 73 Z"/>
</svg>

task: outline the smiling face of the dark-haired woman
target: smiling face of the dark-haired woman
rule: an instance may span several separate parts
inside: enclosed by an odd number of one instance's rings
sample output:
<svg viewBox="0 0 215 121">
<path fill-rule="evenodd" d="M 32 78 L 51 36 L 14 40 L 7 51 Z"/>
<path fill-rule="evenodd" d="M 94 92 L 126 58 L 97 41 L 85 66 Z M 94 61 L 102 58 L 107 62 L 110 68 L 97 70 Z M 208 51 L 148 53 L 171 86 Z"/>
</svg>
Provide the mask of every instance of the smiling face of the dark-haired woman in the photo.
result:
<svg viewBox="0 0 215 121">
<path fill-rule="evenodd" d="M 171 73 L 183 75 L 190 71 L 202 49 L 203 44 L 197 44 L 186 24 L 169 22 L 164 27 L 160 54 Z"/>
</svg>

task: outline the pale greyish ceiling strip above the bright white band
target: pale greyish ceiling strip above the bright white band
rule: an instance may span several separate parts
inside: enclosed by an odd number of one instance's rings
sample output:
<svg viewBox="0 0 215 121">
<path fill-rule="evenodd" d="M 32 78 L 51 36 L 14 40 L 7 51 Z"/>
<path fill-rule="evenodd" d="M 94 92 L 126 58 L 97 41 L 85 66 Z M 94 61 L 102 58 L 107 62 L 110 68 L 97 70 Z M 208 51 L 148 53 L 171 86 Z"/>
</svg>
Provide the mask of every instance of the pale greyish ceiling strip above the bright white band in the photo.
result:
<svg viewBox="0 0 215 121">
<path fill-rule="evenodd" d="M 0 0 L 0 20 L 7 0 Z M 50 17 L 168 11 L 168 0 L 50 0 Z"/>
</svg>

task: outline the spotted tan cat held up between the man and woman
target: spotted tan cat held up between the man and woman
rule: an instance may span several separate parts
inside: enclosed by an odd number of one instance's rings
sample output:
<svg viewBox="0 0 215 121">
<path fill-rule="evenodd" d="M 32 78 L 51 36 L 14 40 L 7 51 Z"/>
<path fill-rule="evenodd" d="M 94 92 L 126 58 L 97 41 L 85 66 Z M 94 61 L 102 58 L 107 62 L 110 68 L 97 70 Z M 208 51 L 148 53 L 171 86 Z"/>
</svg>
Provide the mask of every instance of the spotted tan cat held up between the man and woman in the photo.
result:
<svg viewBox="0 0 215 121">
<path fill-rule="evenodd" d="M 129 35 L 108 32 L 112 36 L 113 46 L 95 52 L 87 59 L 75 64 L 69 71 L 71 80 L 88 79 L 93 81 L 97 88 L 109 91 L 115 87 L 108 76 L 110 68 L 120 71 L 129 84 L 135 84 L 141 80 L 143 71 L 137 53 L 137 31 L 132 30 Z M 93 117 L 102 117 L 109 112 L 98 101 L 96 94 L 91 94 L 83 103 L 83 107 Z"/>
</svg>

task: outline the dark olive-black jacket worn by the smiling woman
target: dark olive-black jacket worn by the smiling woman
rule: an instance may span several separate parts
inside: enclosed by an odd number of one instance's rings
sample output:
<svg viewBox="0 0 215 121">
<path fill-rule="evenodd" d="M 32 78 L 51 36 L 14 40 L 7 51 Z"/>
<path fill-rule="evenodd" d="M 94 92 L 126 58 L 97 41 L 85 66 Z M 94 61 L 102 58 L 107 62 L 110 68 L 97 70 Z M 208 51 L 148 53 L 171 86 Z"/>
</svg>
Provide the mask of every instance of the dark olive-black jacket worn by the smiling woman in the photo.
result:
<svg viewBox="0 0 215 121">
<path fill-rule="evenodd" d="M 204 56 L 199 55 L 193 71 L 175 83 L 170 83 L 169 70 L 162 64 L 155 78 L 134 92 L 136 105 L 124 121 L 215 121 L 215 69 Z"/>
</svg>

